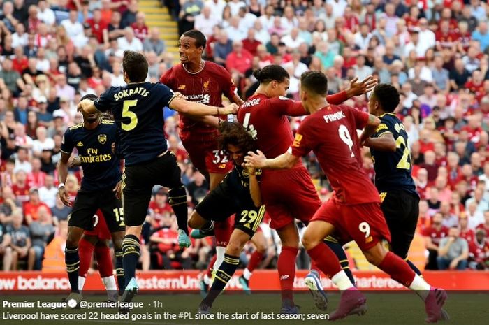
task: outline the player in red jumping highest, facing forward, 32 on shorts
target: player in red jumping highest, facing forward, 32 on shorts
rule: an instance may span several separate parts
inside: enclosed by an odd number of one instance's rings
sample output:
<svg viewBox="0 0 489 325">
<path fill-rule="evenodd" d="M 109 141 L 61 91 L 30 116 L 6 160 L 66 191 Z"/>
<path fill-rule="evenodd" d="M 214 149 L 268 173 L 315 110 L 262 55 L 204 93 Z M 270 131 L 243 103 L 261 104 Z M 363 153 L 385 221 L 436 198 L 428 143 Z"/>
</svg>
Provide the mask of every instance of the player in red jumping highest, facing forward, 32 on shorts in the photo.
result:
<svg viewBox="0 0 489 325">
<path fill-rule="evenodd" d="M 219 107 L 223 106 L 222 96 L 224 95 L 231 102 L 241 105 L 243 101 L 238 96 L 236 86 L 231 80 L 231 74 L 223 66 L 202 59 L 206 43 L 204 34 L 195 29 L 182 34 L 178 47 L 181 63 L 166 71 L 161 76 L 160 82 L 174 92 L 180 92 L 188 101 L 198 101 Z M 219 149 L 218 124 L 219 117 L 206 116 L 196 120 L 195 117 L 180 114 L 182 144 L 189 153 L 192 164 L 209 182 L 211 191 L 233 168 L 227 155 Z M 233 226 L 230 219 L 215 222 L 217 261 L 210 268 L 214 270 L 219 268 L 224 260 L 224 251 L 232 231 Z"/>
</svg>

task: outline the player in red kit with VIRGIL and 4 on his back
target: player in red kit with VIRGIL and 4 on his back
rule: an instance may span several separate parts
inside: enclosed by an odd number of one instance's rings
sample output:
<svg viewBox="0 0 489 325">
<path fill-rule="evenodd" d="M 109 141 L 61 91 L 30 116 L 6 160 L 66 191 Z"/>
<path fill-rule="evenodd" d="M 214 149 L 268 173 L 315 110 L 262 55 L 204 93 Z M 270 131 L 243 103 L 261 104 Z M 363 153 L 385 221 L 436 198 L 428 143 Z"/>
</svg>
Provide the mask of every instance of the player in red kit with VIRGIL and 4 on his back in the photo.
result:
<svg viewBox="0 0 489 325">
<path fill-rule="evenodd" d="M 293 141 L 287 115 L 300 116 L 307 112 L 300 102 L 285 97 L 289 87 L 289 73 L 284 68 L 277 65 L 265 66 L 255 71 L 254 75 L 260 85 L 255 94 L 238 110 L 238 121 L 257 139 L 258 149 L 267 157 L 275 158 L 286 152 Z M 328 101 L 342 103 L 351 96 L 363 94 L 374 85 L 375 81 L 369 78 L 363 82 L 353 81 L 347 91 L 328 96 Z M 282 240 L 282 252 L 277 262 L 282 289 L 282 312 L 297 312 L 292 289 L 299 235 L 294 219 L 300 219 L 307 224 L 321 206 L 321 201 L 309 172 L 301 161 L 289 171 L 265 171 L 261 179 L 261 192 L 271 217 L 270 226 L 277 230 Z M 341 247 L 339 250 L 342 252 Z M 346 257 L 342 257 L 342 260 L 346 260 Z M 347 261 L 345 263 L 347 266 Z M 318 276 L 319 272 L 314 281 L 318 288 L 314 287 L 313 295 L 322 291 L 319 289 L 321 284 L 317 280 Z M 314 300 L 318 308 L 326 309 L 326 296 L 322 299 L 321 296 L 314 296 Z"/>
</svg>

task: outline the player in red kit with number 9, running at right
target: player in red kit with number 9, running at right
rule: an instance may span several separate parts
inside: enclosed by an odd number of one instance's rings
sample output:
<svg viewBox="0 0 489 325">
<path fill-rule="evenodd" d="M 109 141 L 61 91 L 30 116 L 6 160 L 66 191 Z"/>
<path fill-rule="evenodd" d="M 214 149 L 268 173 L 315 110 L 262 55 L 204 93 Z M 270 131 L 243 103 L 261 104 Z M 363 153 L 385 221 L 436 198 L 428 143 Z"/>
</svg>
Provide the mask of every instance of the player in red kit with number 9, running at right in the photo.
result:
<svg viewBox="0 0 489 325">
<path fill-rule="evenodd" d="M 360 141 L 376 131 L 380 120 L 349 106 L 329 105 L 325 98 L 328 79 L 319 71 L 303 73 L 300 82 L 300 98 L 311 115 L 300 124 L 289 150 L 274 159 L 266 159 L 262 152 L 249 152 L 245 161 L 255 168 L 293 168 L 311 150 L 316 154 L 335 192 L 312 218 L 302 244 L 342 291 L 340 305 L 330 320 L 365 312 L 366 301 L 353 287 L 333 251 L 323 243 L 323 238 L 336 231 L 343 242 L 355 240 L 370 263 L 416 291 L 425 301 L 426 321 L 437 322 L 442 319 L 446 292 L 430 287 L 403 259 L 382 245 L 383 240 L 391 240 L 391 234 L 380 209 L 379 192 L 358 164 Z M 358 140 L 356 130 L 364 127 Z"/>
</svg>

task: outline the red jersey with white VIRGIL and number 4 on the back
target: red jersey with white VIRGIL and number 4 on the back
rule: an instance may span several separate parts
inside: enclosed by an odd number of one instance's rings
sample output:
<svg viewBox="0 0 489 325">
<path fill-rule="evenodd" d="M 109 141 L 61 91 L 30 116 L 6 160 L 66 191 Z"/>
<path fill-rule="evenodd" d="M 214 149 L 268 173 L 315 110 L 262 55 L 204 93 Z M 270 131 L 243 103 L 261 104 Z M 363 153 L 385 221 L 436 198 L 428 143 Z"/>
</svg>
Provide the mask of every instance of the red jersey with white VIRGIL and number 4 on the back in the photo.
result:
<svg viewBox="0 0 489 325">
<path fill-rule="evenodd" d="M 342 103 L 346 93 L 326 97 L 330 103 Z M 267 158 L 275 158 L 286 152 L 293 141 L 289 119 L 286 115 L 307 115 L 300 101 L 280 96 L 268 98 L 254 94 L 238 110 L 238 122 L 243 124 L 258 139 L 258 149 Z"/>
</svg>

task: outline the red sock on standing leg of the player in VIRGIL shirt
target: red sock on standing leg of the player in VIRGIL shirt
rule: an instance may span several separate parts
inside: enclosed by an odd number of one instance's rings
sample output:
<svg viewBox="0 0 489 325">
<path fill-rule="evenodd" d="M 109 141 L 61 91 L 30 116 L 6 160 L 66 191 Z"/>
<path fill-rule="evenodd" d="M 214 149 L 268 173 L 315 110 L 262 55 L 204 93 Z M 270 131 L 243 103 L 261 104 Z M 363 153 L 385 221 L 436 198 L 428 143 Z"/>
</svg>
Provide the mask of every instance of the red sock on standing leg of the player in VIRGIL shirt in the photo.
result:
<svg viewBox="0 0 489 325">
<path fill-rule="evenodd" d="M 277 261 L 279 271 L 280 289 L 282 289 L 282 303 L 293 305 L 293 280 L 295 279 L 295 259 L 298 248 L 283 246 Z"/>
</svg>

